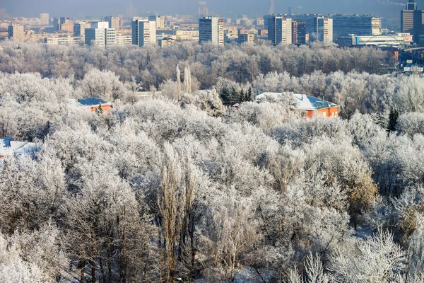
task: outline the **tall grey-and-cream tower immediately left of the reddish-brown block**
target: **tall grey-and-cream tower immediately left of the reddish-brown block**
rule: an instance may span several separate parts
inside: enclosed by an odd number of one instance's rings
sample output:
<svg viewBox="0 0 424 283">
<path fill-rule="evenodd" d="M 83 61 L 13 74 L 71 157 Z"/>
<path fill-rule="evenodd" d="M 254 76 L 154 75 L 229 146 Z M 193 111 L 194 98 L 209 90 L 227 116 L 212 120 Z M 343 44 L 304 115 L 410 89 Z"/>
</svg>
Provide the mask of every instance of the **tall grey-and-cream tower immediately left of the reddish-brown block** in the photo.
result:
<svg viewBox="0 0 424 283">
<path fill-rule="evenodd" d="M 292 19 L 280 16 L 268 18 L 268 40 L 272 45 L 292 44 Z"/>
</svg>

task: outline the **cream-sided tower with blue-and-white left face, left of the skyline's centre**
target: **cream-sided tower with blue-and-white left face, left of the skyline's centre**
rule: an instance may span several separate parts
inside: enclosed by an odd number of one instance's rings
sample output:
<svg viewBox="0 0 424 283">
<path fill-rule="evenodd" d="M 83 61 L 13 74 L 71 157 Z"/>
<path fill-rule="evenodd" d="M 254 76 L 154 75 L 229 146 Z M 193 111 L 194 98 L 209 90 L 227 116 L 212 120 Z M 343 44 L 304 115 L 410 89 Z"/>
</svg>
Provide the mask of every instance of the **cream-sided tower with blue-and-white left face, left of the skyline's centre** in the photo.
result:
<svg viewBox="0 0 424 283">
<path fill-rule="evenodd" d="M 156 22 L 135 20 L 131 23 L 132 44 L 138 47 L 156 45 Z"/>
</svg>

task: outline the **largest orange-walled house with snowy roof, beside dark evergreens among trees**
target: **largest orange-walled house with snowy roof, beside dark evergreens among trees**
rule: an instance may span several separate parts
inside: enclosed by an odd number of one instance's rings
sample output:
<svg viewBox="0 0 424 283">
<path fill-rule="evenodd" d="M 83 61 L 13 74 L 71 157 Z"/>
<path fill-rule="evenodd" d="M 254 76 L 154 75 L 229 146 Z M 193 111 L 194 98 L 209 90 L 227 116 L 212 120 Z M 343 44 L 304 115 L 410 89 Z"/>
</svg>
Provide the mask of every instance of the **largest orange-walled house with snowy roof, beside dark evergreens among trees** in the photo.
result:
<svg viewBox="0 0 424 283">
<path fill-rule="evenodd" d="M 288 101 L 290 107 L 305 112 L 306 117 L 338 117 L 338 105 L 307 94 L 262 93 L 256 100 Z"/>
</svg>

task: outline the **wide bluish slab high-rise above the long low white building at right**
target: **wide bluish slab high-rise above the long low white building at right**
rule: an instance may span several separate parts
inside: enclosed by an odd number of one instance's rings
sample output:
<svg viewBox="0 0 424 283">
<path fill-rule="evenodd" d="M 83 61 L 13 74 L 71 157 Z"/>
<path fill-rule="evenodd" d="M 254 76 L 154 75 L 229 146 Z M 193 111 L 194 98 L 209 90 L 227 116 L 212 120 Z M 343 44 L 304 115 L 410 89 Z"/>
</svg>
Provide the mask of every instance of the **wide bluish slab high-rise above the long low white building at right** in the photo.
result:
<svg viewBox="0 0 424 283">
<path fill-rule="evenodd" d="M 334 38 L 348 35 L 379 35 L 382 30 L 382 18 L 373 16 L 335 15 L 333 18 Z"/>
</svg>

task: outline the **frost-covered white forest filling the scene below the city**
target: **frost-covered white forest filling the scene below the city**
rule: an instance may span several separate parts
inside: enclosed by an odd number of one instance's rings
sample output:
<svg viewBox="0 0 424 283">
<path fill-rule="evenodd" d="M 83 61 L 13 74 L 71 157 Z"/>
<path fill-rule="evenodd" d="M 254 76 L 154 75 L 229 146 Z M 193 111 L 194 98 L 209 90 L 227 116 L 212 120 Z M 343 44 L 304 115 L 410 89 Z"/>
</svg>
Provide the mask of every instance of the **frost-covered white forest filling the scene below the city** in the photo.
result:
<svg viewBox="0 0 424 283">
<path fill-rule="evenodd" d="M 1 159 L 4 282 L 424 282 L 424 78 L 384 52 L 2 48 L 1 138 L 40 147 Z M 249 88 L 341 117 L 223 105 Z"/>
</svg>

